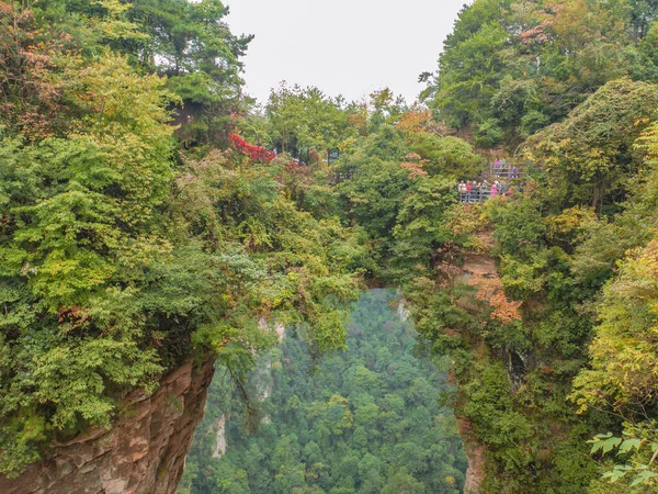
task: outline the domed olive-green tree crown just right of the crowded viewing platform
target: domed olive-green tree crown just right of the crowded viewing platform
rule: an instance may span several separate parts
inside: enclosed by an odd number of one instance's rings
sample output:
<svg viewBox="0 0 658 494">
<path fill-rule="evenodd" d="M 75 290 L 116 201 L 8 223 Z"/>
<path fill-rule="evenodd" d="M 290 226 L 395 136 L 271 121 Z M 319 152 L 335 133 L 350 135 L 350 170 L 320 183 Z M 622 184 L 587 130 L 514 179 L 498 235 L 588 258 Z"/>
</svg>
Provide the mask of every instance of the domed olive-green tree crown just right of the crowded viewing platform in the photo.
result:
<svg viewBox="0 0 658 494">
<path fill-rule="evenodd" d="M 656 103 L 654 85 L 627 79 L 609 82 L 564 122 L 529 139 L 533 157 L 543 164 L 552 199 L 614 211 L 611 203 L 625 199 L 629 179 L 642 164 L 634 143 L 655 116 Z"/>
</svg>

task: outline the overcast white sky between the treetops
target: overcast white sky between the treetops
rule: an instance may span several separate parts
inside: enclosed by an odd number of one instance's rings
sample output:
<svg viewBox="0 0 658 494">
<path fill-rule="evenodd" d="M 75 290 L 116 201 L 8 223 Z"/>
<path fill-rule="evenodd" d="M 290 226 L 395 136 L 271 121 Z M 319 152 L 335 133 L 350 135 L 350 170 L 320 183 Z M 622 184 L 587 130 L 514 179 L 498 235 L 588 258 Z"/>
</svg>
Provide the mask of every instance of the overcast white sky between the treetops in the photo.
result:
<svg viewBox="0 0 658 494">
<path fill-rule="evenodd" d="M 247 91 L 264 102 L 279 82 L 348 100 L 389 87 L 413 102 L 434 71 L 466 0 L 226 0 L 235 34 L 254 34 Z"/>
</svg>

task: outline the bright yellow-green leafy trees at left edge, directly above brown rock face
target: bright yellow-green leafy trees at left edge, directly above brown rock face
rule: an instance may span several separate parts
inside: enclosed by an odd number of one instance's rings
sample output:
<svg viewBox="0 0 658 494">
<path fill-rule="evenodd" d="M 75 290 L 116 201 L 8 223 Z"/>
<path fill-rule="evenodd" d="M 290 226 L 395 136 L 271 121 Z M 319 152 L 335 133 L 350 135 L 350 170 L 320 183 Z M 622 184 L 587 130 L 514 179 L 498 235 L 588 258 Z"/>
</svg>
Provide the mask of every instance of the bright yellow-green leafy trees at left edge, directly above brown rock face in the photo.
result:
<svg viewBox="0 0 658 494">
<path fill-rule="evenodd" d="M 172 249 L 158 207 L 173 170 L 159 78 L 111 54 L 67 75 L 86 91 L 68 137 L 3 141 L 2 420 L 38 409 L 43 430 L 75 431 L 109 425 L 114 400 L 162 370 L 145 348 L 138 287 Z M 43 439 L 25 434 L 15 436 L 23 449 Z M 23 459 L 34 451 L 13 463 Z"/>
</svg>

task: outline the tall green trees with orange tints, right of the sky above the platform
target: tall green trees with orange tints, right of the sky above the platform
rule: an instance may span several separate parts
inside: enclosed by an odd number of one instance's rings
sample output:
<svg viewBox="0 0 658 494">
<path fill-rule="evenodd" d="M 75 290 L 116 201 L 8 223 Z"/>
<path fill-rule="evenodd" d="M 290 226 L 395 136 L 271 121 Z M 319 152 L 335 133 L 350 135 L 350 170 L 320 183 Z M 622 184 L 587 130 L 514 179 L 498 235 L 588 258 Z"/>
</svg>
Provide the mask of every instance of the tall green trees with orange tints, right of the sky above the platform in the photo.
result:
<svg viewBox="0 0 658 494">
<path fill-rule="evenodd" d="M 479 147 L 517 146 L 608 81 L 655 81 L 656 14 L 645 1 L 475 1 L 460 12 L 422 97 Z"/>
</svg>

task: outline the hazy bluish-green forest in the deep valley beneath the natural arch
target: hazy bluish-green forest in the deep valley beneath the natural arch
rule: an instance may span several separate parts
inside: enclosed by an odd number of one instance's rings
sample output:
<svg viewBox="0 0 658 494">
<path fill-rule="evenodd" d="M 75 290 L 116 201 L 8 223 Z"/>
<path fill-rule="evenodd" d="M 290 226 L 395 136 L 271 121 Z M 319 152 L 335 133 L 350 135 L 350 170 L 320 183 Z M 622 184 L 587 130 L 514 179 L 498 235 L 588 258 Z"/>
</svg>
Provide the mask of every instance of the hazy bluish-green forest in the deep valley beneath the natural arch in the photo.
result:
<svg viewBox="0 0 658 494">
<path fill-rule="evenodd" d="M 268 396 L 257 434 L 241 427 L 242 404 L 218 373 L 179 492 L 461 492 L 466 458 L 439 405 L 451 392 L 445 371 L 412 353 L 412 324 L 392 302 L 382 290 L 361 299 L 344 351 L 314 362 L 293 333 L 261 357 L 249 379 L 254 396 Z M 213 456 L 220 417 L 222 459 Z"/>
</svg>

